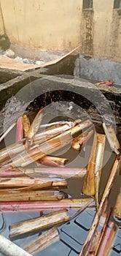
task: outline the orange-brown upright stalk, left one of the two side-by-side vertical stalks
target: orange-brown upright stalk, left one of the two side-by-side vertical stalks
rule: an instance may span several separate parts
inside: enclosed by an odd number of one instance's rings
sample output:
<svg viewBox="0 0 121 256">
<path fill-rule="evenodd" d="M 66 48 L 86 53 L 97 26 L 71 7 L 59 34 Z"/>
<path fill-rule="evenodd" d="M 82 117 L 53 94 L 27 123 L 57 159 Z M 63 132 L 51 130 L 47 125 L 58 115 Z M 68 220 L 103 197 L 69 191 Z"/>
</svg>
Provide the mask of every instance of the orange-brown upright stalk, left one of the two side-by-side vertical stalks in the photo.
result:
<svg viewBox="0 0 121 256">
<path fill-rule="evenodd" d="M 96 143 L 97 135 L 95 133 L 93 138 L 93 146 L 90 154 L 90 159 L 87 165 L 87 173 L 85 175 L 84 184 L 82 187 L 82 193 L 85 195 L 95 195 L 95 156 L 96 156 Z"/>
</svg>

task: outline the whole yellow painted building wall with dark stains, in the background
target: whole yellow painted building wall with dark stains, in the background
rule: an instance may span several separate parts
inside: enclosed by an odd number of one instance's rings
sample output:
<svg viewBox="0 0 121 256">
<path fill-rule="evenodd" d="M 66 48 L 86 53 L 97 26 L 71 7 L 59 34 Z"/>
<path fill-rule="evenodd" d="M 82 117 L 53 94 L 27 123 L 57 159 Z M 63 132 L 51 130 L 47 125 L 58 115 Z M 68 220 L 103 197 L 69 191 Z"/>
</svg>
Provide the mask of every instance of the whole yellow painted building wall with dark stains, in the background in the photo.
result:
<svg viewBox="0 0 121 256">
<path fill-rule="evenodd" d="M 82 0 L 1 0 L 5 31 L 17 49 L 63 51 L 80 44 L 85 56 L 117 61 L 121 10 L 113 5 L 93 0 L 93 10 L 82 10 Z"/>
</svg>

